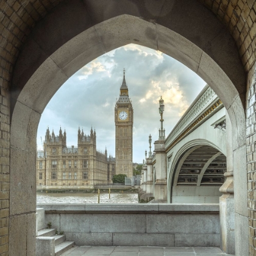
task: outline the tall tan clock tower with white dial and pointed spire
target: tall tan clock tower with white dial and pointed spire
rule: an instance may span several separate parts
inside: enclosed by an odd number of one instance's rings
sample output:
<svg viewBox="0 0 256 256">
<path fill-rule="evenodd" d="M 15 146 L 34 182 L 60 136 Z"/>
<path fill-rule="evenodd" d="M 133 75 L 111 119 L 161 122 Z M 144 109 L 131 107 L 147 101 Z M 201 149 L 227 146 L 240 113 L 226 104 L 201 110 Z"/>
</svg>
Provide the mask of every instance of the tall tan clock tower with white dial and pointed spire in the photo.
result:
<svg viewBox="0 0 256 256">
<path fill-rule="evenodd" d="M 132 177 L 132 127 L 133 108 L 130 102 L 124 70 L 120 96 L 115 105 L 116 126 L 116 174 Z"/>
</svg>

